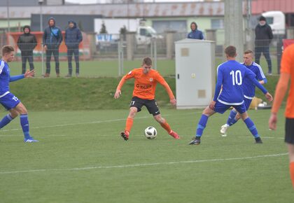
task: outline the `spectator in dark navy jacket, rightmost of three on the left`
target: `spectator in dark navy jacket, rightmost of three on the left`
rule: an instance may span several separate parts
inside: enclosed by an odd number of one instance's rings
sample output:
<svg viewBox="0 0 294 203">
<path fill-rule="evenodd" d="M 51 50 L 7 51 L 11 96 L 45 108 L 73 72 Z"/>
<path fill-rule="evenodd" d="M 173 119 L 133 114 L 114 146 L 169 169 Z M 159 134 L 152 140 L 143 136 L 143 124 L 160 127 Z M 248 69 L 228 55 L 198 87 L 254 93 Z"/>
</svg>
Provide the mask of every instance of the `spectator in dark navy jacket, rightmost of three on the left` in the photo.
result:
<svg viewBox="0 0 294 203">
<path fill-rule="evenodd" d="M 65 45 L 67 47 L 67 59 L 69 60 L 69 73 L 66 77 L 71 77 L 73 72 L 73 67 L 71 65 L 71 59 L 74 55 L 74 61 L 76 62 L 76 77 L 80 73 L 80 64 L 78 62 L 78 45 L 83 41 L 82 33 L 80 29 L 76 27 L 76 22 L 73 20 L 69 21 L 69 27 L 65 30 Z"/>
</svg>

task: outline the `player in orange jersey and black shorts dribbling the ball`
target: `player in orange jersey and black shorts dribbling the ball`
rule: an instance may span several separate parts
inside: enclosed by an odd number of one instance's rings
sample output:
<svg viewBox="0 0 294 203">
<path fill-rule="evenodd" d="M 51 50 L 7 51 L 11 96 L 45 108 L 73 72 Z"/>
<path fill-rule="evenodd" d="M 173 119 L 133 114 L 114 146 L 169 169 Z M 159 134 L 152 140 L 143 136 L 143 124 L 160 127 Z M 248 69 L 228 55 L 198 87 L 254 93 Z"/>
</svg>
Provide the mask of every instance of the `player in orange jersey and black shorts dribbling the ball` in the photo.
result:
<svg viewBox="0 0 294 203">
<path fill-rule="evenodd" d="M 127 141 L 129 139 L 129 134 L 132 129 L 133 120 L 136 116 L 137 112 L 141 111 L 142 106 L 146 106 L 149 113 L 153 114 L 153 118 L 160 123 L 160 125 L 167 131 L 169 135 L 174 137 L 174 139 L 179 139 L 179 134 L 174 132 L 165 118 L 162 118 L 160 115 L 160 111 L 158 109 L 158 105 L 154 99 L 155 97 L 155 89 L 157 83 L 160 83 L 165 90 L 167 90 L 167 94 L 169 94 L 170 102 L 173 106 L 176 105 L 176 99 L 174 98 L 174 94 L 172 93 L 171 88 L 167 84 L 164 78 L 160 76 L 158 71 L 151 69 L 152 60 L 150 57 L 145 57 L 142 62 L 142 66 L 139 69 L 133 69 L 127 75 L 123 76 L 116 88 L 116 94 L 114 94 L 114 98 L 118 99 L 120 97 L 120 90 L 123 87 L 123 84 L 126 80 L 130 78 L 134 78 L 134 91 L 133 98 L 130 104 L 130 113 L 127 116 L 127 122 L 125 124 L 125 132 L 121 132 L 120 136 Z"/>
</svg>

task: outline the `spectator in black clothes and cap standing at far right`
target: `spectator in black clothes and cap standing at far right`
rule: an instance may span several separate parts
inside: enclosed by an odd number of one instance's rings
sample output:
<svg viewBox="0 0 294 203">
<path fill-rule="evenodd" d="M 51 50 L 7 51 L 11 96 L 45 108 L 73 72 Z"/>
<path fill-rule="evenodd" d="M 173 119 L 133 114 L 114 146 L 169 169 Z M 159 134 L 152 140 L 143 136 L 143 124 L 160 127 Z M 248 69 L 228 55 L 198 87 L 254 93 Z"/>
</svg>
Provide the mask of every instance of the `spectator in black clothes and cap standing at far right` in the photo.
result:
<svg viewBox="0 0 294 203">
<path fill-rule="evenodd" d="M 267 25 L 265 17 L 262 15 L 259 18 L 258 25 L 255 27 L 255 62 L 260 64 L 260 55 L 263 53 L 267 59 L 267 74 L 272 75 L 272 60 L 269 55 L 269 44 L 272 41 L 272 28 Z"/>
</svg>

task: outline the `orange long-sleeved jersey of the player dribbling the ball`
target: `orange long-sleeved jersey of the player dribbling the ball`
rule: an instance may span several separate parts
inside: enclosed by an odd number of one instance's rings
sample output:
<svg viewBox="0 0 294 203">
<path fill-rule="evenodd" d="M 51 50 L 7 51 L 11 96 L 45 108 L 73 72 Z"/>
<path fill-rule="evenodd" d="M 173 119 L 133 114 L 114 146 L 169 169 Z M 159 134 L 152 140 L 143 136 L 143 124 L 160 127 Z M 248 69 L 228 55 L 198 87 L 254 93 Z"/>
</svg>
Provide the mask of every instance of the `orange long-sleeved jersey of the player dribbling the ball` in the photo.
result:
<svg viewBox="0 0 294 203">
<path fill-rule="evenodd" d="M 165 79 L 162 78 L 160 73 L 154 69 L 151 69 L 147 74 L 143 72 L 143 68 L 133 69 L 120 80 L 116 89 L 120 90 L 125 83 L 125 80 L 129 80 L 130 78 L 134 78 L 133 97 L 139 97 L 140 99 L 154 99 L 156 85 L 160 83 L 165 87 L 165 90 L 167 90 L 169 98 L 174 99 L 174 94 L 169 85 Z"/>
</svg>

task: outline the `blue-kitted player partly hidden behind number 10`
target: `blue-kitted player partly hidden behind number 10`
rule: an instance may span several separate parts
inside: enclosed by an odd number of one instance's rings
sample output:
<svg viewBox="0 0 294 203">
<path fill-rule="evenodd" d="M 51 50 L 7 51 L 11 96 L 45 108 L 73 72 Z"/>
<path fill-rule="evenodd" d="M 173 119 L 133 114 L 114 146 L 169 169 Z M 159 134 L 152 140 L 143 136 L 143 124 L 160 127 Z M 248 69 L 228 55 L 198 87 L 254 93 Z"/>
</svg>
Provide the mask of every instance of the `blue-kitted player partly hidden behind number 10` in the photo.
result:
<svg viewBox="0 0 294 203">
<path fill-rule="evenodd" d="M 247 69 L 250 69 L 255 73 L 255 78 L 259 81 L 260 84 L 267 83 L 267 78 L 265 78 L 265 74 L 263 73 L 260 65 L 253 62 L 253 52 L 251 50 L 246 50 L 243 55 L 244 66 Z M 246 106 L 246 111 L 249 109 L 251 101 L 255 95 L 255 84 L 251 82 L 251 80 L 244 79 L 243 81 L 243 92 L 244 92 L 244 104 Z M 232 109 L 230 112 L 230 116 L 227 120 L 227 123 L 221 127 L 221 134 L 223 137 L 227 136 L 228 127 L 237 123 L 240 119 L 240 114 L 236 111 L 236 109 Z"/>
</svg>

